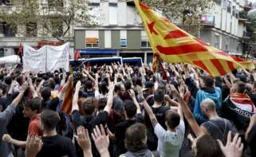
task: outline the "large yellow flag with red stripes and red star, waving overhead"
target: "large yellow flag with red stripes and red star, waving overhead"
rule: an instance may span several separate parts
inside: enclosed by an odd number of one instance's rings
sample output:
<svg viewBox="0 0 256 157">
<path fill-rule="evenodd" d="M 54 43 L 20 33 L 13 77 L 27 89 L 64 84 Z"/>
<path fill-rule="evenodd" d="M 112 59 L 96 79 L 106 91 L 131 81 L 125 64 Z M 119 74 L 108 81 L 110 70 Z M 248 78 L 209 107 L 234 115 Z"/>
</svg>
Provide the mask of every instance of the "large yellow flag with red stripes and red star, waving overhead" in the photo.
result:
<svg viewBox="0 0 256 157">
<path fill-rule="evenodd" d="M 139 0 L 134 0 L 154 51 L 153 70 L 157 57 L 167 63 L 188 63 L 205 70 L 212 77 L 223 76 L 234 69 L 254 69 L 254 64 L 207 45 Z"/>
</svg>

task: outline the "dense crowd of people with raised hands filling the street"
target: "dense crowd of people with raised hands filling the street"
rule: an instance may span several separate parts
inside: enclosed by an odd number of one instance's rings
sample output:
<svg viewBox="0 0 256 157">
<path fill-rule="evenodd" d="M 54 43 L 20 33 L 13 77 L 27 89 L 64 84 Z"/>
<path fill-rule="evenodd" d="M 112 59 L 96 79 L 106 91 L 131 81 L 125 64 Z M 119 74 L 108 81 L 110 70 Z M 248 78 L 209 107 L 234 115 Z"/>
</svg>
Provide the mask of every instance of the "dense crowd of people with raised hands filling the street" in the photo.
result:
<svg viewBox="0 0 256 157">
<path fill-rule="evenodd" d="M 1 68 L 0 156 L 256 156 L 255 71 L 211 77 L 191 65 L 163 68 Z"/>
</svg>

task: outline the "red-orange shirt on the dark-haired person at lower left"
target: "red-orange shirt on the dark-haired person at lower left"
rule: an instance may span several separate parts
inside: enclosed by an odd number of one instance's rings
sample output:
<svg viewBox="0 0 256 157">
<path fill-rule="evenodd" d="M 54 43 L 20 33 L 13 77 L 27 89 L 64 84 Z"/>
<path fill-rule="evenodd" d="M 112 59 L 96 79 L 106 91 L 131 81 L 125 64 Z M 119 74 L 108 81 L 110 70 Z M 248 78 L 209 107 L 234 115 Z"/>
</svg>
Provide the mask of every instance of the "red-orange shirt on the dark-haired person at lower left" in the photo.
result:
<svg viewBox="0 0 256 157">
<path fill-rule="evenodd" d="M 30 120 L 28 134 L 29 135 L 42 136 L 42 130 L 41 130 L 41 127 L 40 127 L 40 116 L 39 115 L 35 116 L 32 120 Z"/>
</svg>

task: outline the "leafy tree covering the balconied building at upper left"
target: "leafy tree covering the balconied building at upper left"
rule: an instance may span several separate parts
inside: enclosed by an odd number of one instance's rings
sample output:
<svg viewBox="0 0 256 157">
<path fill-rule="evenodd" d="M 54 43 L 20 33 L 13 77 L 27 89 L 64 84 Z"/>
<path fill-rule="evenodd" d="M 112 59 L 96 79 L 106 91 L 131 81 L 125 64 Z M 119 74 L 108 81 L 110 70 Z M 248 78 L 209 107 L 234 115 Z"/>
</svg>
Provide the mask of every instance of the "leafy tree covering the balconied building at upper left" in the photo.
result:
<svg viewBox="0 0 256 157">
<path fill-rule="evenodd" d="M 73 25 L 91 26 L 96 23 L 89 14 L 88 1 L 13 0 L 13 6 L 2 7 L 0 21 L 6 22 L 19 36 L 54 37 L 65 41 Z M 38 30 L 38 31 L 37 31 Z"/>
</svg>

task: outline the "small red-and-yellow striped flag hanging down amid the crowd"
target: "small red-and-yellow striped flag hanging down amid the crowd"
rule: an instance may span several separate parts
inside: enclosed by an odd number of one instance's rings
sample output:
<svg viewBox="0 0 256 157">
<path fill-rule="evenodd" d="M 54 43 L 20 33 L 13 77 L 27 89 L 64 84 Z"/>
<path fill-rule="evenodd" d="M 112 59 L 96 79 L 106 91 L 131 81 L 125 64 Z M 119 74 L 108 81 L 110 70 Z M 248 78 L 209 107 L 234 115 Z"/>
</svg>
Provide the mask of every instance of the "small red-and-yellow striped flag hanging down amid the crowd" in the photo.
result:
<svg viewBox="0 0 256 157">
<path fill-rule="evenodd" d="M 70 68 L 70 74 L 73 73 L 73 69 Z M 72 112 L 72 100 L 73 100 L 73 80 L 70 81 L 68 88 L 65 90 L 63 104 L 61 106 L 61 111 L 65 112 L 68 115 L 71 115 Z"/>
</svg>

